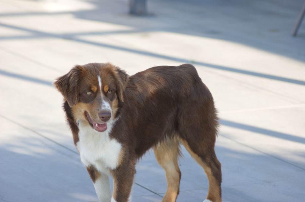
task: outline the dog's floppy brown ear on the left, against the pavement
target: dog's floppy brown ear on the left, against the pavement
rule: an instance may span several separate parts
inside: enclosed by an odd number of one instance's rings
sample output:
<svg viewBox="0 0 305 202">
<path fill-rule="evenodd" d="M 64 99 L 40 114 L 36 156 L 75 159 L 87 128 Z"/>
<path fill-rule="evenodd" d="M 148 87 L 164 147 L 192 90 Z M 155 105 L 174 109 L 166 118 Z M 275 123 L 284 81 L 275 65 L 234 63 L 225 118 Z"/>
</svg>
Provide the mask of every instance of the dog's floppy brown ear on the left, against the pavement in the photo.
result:
<svg viewBox="0 0 305 202">
<path fill-rule="evenodd" d="M 73 107 L 79 100 L 79 81 L 84 67 L 76 65 L 67 74 L 58 77 L 54 82 L 57 90 L 63 95 L 70 107 Z"/>
</svg>

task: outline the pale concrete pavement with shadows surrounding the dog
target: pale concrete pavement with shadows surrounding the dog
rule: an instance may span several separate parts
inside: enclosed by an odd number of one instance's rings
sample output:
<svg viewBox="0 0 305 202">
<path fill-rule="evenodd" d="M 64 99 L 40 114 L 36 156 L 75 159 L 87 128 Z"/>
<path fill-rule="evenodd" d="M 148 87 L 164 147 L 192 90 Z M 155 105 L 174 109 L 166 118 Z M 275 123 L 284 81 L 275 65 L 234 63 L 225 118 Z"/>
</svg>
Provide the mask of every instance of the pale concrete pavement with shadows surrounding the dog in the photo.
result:
<svg viewBox="0 0 305 202">
<path fill-rule="evenodd" d="M 305 198 L 303 0 L 160 1 L 127 15 L 127 0 L 0 0 L 0 201 L 97 201 L 74 148 L 54 79 L 75 64 L 129 74 L 193 63 L 221 118 L 216 154 L 224 202 Z M 183 149 L 178 202 L 201 202 L 208 181 Z M 137 166 L 132 201 L 161 201 L 153 152 Z"/>
</svg>

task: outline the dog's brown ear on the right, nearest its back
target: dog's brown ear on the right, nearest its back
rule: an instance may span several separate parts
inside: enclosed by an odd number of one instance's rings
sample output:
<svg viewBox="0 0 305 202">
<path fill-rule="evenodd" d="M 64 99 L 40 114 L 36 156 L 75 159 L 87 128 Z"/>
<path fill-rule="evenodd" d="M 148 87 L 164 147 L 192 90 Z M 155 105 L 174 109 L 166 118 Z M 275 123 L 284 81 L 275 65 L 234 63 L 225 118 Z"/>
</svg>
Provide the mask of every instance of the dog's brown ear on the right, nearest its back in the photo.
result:
<svg viewBox="0 0 305 202">
<path fill-rule="evenodd" d="M 119 67 L 116 67 L 115 71 L 117 77 L 116 80 L 117 80 L 118 107 L 123 107 L 124 104 L 123 92 L 127 86 L 129 75 L 124 70 L 121 70 Z"/>
</svg>

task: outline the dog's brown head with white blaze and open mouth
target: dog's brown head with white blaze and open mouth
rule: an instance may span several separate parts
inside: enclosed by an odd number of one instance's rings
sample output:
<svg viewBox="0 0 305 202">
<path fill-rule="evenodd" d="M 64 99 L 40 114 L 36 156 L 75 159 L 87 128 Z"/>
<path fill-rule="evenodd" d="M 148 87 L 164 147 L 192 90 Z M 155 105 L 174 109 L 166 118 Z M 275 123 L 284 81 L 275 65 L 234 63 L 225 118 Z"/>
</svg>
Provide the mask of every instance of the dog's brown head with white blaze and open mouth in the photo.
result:
<svg viewBox="0 0 305 202">
<path fill-rule="evenodd" d="M 76 65 L 54 83 L 72 109 L 74 120 L 98 132 L 107 129 L 119 108 L 128 75 L 111 63 Z"/>
</svg>

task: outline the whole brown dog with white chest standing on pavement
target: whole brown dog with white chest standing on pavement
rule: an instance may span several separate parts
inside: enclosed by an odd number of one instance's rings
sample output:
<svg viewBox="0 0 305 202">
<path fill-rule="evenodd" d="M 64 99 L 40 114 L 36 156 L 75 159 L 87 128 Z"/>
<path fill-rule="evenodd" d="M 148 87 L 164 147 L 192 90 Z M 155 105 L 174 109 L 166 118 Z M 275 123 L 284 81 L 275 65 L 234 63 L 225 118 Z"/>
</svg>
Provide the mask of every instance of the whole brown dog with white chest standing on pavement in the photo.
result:
<svg viewBox="0 0 305 202">
<path fill-rule="evenodd" d="M 176 201 L 180 143 L 208 177 L 205 201 L 221 202 L 221 164 L 214 152 L 218 120 L 194 66 L 152 67 L 129 76 L 111 63 L 89 63 L 57 78 L 55 86 L 101 202 L 130 201 L 135 164 L 150 148 L 166 173 L 162 202 Z"/>
</svg>

